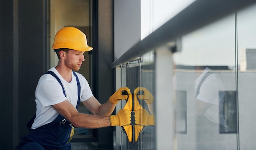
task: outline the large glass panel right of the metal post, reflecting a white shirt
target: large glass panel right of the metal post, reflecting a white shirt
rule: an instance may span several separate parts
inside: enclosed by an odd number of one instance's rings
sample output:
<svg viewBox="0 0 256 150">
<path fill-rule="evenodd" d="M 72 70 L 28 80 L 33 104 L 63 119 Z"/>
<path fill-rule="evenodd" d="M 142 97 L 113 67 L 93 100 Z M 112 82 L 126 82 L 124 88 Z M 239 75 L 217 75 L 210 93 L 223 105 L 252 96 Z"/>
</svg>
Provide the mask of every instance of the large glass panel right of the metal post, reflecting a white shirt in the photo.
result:
<svg viewBox="0 0 256 150">
<path fill-rule="evenodd" d="M 173 55 L 177 149 L 236 149 L 235 15 L 182 37 Z"/>
</svg>

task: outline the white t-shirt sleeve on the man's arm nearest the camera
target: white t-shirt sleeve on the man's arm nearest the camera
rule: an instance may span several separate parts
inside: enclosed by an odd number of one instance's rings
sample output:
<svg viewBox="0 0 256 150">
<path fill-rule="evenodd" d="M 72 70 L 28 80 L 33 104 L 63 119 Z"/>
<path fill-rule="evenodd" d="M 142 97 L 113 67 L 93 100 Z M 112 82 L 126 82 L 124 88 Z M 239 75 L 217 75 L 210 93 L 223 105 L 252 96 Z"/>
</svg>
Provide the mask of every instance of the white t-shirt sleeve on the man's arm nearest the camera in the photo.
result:
<svg viewBox="0 0 256 150">
<path fill-rule="evenodd" d="M 60 83 L 55 78 L 47 78 L 39 84 L 36 96 L 43 107 L 55 105 L 67 99 L 63 94 Z"/>
</svg>

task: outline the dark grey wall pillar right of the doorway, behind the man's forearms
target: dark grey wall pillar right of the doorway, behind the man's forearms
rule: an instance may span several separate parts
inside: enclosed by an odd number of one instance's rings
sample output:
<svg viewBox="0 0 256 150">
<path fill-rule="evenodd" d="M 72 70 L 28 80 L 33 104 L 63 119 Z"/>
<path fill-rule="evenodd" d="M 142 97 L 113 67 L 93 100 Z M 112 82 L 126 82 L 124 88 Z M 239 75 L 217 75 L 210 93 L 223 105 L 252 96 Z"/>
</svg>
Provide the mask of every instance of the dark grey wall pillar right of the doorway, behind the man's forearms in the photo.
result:
<svg viewBox="0 0 256 150">
<path fill-rule="evenodd" d="M 98 1 L 97 23 L 97 96 L 106 103 L 114 93 L 114 72 L 109 68 L 113 62 L 113 0 Z M 113 127 L 99 128 L 98 141 L 101 146 L 113 146 Z"/>
</svg>

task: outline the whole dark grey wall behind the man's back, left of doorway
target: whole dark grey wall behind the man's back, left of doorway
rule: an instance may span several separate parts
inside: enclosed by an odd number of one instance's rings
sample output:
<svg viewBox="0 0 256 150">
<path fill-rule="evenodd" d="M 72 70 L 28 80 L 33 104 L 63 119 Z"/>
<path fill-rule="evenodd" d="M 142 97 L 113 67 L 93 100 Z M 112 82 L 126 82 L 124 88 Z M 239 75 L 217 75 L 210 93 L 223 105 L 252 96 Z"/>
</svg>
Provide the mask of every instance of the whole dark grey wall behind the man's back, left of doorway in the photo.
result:
<svg viewBox="0 0 256 150">
<path fill-rule="evenodd" d="M 46 1 L 0 0 L 0 150 L 13 150 L 28 133 L 34 92 L 45 72 Z"/>
</svg>

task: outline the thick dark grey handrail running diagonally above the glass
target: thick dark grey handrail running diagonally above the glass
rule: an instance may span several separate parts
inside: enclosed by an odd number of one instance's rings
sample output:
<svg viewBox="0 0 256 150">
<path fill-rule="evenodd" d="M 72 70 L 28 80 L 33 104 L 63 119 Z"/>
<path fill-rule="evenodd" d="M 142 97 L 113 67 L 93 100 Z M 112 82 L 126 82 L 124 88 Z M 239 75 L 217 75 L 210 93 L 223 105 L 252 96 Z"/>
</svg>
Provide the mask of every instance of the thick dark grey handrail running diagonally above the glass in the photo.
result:
<svg viewBox="0 0 256 150">
<path fill-rule="evenodd" d="M 171 48 L 176 51 L 180 47 L 180 37 L 255 2 L 255 0 L 195 0 L 152 34 L 128 49 L 110 64 L 110 68 L 127 63 L 152 49 L 168 45 L 173 41 L 175 44 L 171 44 Z"/>
</svg>

